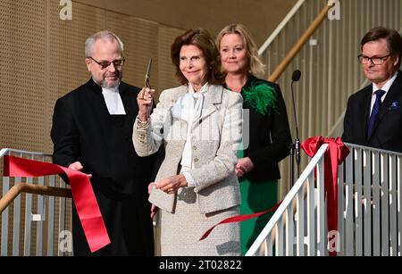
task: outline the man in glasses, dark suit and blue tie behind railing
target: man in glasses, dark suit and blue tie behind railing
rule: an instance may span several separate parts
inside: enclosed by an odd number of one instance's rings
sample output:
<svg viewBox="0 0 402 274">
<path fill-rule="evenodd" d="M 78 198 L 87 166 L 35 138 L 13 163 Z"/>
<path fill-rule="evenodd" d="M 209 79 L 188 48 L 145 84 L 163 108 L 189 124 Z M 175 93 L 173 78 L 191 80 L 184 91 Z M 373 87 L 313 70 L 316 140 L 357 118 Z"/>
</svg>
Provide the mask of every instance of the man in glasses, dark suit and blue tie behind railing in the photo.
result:
<svg viewBox="0 0 402 274">
<path fill-rule="evenodd" d="M 361 45 L 358 58 L 373 84 L 349 97 L 342 139 L 402 153 L 402 37 L 395 29 L 377 27 Z"/>
</svg>

